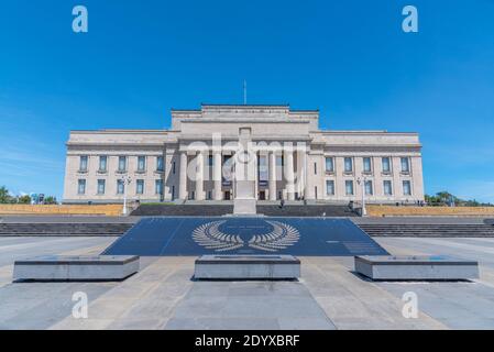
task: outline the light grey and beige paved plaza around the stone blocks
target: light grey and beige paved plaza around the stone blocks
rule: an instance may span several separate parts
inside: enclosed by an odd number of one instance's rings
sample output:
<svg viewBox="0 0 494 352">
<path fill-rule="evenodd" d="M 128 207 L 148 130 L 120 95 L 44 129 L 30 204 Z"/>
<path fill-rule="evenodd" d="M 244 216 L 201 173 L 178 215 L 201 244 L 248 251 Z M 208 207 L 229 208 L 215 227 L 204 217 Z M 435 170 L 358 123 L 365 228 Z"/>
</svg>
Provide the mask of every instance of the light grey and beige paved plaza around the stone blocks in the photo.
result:
<svg viewBox="0 0 494 352">
<path fill-rule="evenodd" d="M 351 257 L 300 257 L 298 282 L 195 282 L 195 256 L 142 257 L 122 283 L 11 283 L 13 262 L 99 254 L 114 238 L 0 238 L 0 329 L 494 329 L 494 239 L 377 239 L 389 253 L 480 262 L 468 283 L 372 283 Z M 74 293 L 88 296 L 75 319 Z M 418 296 L 417 319 L 402 315 Z"/>
</svg>

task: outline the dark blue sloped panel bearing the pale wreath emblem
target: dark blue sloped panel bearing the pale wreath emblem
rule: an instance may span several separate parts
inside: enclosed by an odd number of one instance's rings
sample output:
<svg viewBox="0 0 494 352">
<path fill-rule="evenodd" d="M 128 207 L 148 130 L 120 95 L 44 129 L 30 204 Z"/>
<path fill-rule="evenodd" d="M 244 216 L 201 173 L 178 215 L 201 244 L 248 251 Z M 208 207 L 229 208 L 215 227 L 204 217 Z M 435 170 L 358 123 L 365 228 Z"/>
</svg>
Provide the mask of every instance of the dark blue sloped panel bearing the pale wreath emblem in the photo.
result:
<svg viewBox="0 0 494 352">
<path fill-rule="evenodd" d="M 350 220 L 325 218 L 147 218 L 103 252 L 143 256 L 213 253 L 388 254 Z"/>
</svg>

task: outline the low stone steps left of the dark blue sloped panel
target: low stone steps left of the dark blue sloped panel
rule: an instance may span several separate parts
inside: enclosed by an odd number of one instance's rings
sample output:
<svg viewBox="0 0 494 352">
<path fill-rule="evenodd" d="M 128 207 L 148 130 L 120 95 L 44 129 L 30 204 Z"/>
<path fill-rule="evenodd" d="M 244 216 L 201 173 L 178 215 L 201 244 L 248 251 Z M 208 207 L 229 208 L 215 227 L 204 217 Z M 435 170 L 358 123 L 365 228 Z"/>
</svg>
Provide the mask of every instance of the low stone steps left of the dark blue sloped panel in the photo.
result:
<svg viewBox="0 0 494 352">
<path fill-rule="evenodd" d="M 0 223 L 0 237 L 15 235 L 80 235 L 80 237 L 118 237 L 130 230 L 133 223 L 106 222 L 44 222 L 44 223 Z"/>
</svg>

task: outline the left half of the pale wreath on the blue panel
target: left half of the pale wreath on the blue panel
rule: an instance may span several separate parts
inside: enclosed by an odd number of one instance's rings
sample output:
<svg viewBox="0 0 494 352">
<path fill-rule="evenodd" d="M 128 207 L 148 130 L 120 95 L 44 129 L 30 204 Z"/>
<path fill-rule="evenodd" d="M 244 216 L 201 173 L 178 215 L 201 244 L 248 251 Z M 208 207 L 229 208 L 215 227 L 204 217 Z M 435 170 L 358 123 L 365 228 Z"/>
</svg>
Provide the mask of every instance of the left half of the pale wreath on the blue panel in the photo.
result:
<svg viewBox="0 0 494 352">
<path fill-rule="evenodd" d="M 244 245 L 239 235 L 227 234 L 219 230 L 219 227 L 227 221 L 213 221 L 198 227 L 193 232 L 193 239 L 198 244 L 215 250 L 216 252 L 233 251 Z"/>
</svg>

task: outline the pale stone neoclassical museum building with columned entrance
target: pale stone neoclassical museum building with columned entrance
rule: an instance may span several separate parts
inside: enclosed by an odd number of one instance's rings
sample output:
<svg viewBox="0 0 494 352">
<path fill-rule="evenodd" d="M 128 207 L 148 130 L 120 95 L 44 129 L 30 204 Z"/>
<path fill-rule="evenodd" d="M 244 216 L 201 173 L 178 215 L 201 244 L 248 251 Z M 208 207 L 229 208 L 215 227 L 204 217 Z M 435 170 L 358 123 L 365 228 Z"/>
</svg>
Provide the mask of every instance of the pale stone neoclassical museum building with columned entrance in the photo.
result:
<svg viewBox="0 0 494 352">
<path fill-rule="evenodd" d="M 64 202 L 231 200 L 242 131 L 259 200 L 424 200 L 417 133 L 323 131 L 318 110 L 289 106 L 202 105 L 173 110 L 169 130 L 72 131 Z"/>
</svg>

